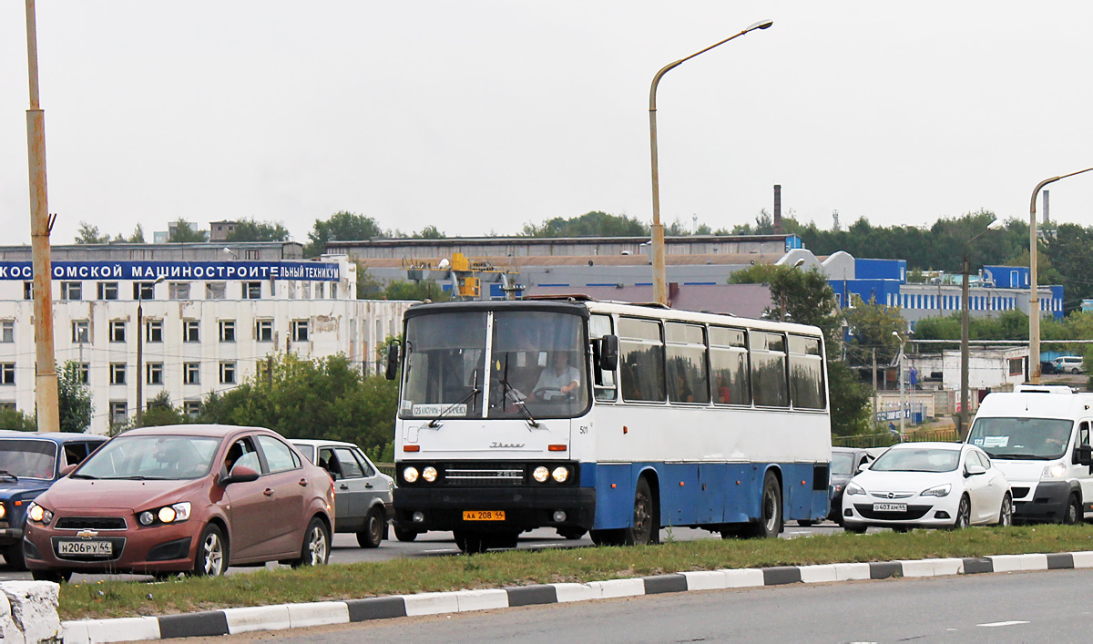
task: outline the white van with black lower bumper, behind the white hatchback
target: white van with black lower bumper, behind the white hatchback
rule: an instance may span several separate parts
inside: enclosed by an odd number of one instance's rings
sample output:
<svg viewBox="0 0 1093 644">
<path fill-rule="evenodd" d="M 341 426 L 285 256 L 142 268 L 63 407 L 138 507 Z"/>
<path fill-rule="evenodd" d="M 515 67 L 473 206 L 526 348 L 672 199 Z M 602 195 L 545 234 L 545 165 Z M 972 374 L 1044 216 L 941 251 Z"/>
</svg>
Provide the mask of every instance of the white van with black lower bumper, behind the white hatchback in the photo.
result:
<svg viewBox="0 0 1093 644">
<path fill-rule="evenodd" d="M 967 442 L 1009 479 L 1013 518 L 1074 524 L 1093 511 L 1093 394 L 1019 385 L 979 403 Z"/>
</svg>

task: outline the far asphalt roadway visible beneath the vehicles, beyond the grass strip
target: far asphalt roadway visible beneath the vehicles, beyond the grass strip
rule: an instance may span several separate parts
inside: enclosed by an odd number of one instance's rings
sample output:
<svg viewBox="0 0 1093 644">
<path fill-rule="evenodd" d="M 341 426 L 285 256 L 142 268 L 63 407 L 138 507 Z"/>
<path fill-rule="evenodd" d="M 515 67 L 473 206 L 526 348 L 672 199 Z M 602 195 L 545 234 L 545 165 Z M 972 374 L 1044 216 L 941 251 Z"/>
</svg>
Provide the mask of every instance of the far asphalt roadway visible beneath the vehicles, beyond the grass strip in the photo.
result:
<svg viewBox="0 0 1093 644">
<path fill-rule="evenodd" d="M 815 534 L 826 534 L 841 531 L 842 528 L 832 523 L 824 523 L 819 526 L 812 526 L 810 528 L 801 528 L 797 525 L 787 525 L 785 531 L 783 532 L 783 538 L 795 538 L 803 537 L 808 535 Z M 390 530 L 393 537 L 393 530 Z M 660 540 L 665 542 L 669 539 L 675 539 L 679 541 L 690 541 L 693 539 L 720 539 L 720 536 L 716 532 L 707 532 L 706 530 L 695 530 L 690 528 L 674 528 L 671 530 L 665 529 L 660 531 Z M 556 530 L 553 529 L 540 529 L 532 530 L 530 532 L 525 532 L 520 536 L 518 549 L 537 549 L 537 548 L 576 548 L 591 546 L 592 541 L 586 536 L 581 539 L 568 540 L 560 537 Z M 356 563 L 360 561 L 387 561 L 390 559 L 399 558 L 425 558 L 425 557 L 451 557 L 459 554 L 459 548 L 456 547 L 456 542 L 451 537 L 451 532 L 426 532 L 421 535 L 416 540 L 410 542 L 401 542 L 396 539 L 385 540 L 380 543 L 379 548 L 366 549 L 361 548 L 356 543 L 356 537 L 353 535 L 334 535 L 333 548 L 330 550 L 330 563 Z M 269 563 L 267 566 L 277 566 L 279 564 Z M 255 570 L 255 567 L 233 567 L 228 569 L 227 574 L 245 574 Z M 30 579 L 31 573 L 28 572 L 15 572 L 8 567 L 7 563 L 0 565 L 0 582 L 7 582 L 11 579 Z M 96 582 L 98 579 L 151 579 L 150 576 L 142 575 L 72 575 L 72 582 Z"/>
</svg>

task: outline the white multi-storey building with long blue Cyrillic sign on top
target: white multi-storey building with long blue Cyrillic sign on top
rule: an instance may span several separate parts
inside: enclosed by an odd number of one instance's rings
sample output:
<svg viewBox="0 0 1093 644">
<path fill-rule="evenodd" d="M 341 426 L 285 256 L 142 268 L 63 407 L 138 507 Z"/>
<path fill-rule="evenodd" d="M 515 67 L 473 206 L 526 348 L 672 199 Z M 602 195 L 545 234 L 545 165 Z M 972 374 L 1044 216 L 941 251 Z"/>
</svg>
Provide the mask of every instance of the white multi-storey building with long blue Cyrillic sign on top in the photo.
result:
<svg viewBox="0 0 1093 644">
<path fill-rule="evenodd" d="M 196 412 L 209 393 L 236 387 L 277 353 L 343 353 L 374 373 L 380 346 L 399 332 L 413 304 L 356 300 L 356 266 L 344 256 L 60 260 L 52 272 L 57 367 L 80 365 L 95 433 L 134 413 L 137 378 L 145 403 L 166 391 L 173 403 Z M 32 280 L 28 260 L 0 261 L 0 407 L 33 414 Z"/>
</svg>

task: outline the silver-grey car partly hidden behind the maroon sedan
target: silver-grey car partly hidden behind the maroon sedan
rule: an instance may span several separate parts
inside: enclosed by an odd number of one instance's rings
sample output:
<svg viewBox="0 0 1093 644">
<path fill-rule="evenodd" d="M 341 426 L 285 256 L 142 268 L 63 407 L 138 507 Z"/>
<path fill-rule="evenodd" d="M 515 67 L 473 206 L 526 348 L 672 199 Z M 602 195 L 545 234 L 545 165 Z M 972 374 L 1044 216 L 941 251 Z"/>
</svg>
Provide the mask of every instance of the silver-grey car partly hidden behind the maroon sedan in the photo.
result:
<svg viewBox="0 0 1093 644">
<path fill-rule="evenodd" d="M 334 480 L 336 531 L 355 532 L 362 548 L 378 547 L 387 538 L 395 480 L 352 443 L 301 438 L 292 444 Z"/>
</svg>

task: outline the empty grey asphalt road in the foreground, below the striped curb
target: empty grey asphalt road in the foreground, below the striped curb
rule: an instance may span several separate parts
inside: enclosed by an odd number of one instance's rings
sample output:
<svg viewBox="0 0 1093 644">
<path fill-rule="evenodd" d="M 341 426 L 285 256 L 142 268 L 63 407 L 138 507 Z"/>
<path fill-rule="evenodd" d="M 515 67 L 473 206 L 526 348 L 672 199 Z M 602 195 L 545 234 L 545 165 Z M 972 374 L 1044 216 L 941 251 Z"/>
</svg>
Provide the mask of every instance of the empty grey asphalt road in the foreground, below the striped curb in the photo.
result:
<svg viewBox="0 0 1093 644">
<path fill-rule="evenodd" d="M 1093 571 L 651 595 L 249 633 L 218 642 L 1088 642 Z M 189 639 L 188 643 L 209 640 Z"/>
</svg>

